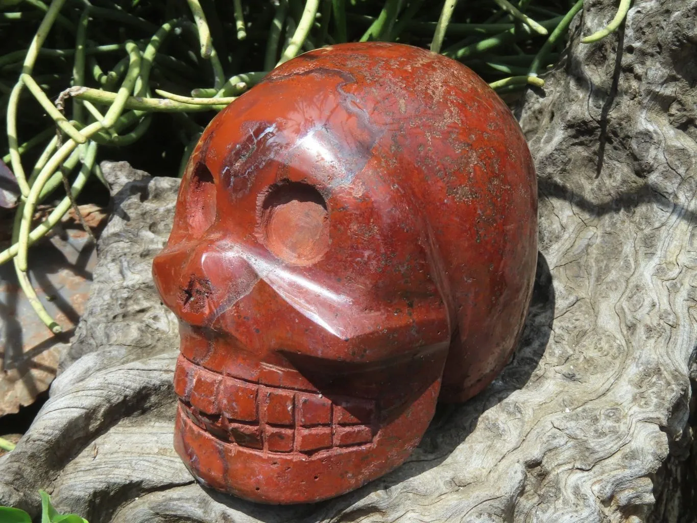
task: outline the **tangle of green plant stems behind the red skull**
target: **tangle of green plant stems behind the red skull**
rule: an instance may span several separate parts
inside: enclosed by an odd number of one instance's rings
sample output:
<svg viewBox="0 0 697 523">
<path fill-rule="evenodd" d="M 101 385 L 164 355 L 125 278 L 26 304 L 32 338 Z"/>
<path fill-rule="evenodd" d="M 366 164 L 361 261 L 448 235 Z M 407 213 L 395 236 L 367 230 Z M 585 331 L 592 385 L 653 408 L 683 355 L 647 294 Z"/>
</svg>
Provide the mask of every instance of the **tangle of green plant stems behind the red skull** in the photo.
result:
<svg viewBox="0 0 697 523">
<path fill-rule="evenodd" d="M 146 134 L 153 113 L 169 112 L 181 124 L 185 144 L 179 169 L 181 174 L 202 130 L 198 123 L 187 116 L 188 113 L 220 110 L 233 103 L 251 86 L 261 82 L 275 66 L 293 58 L 301 50 L 312 49 L 315 45 L 346 42 L 351 35 L 351 38 L 362 41 L 408 41 L 408 37 L 403 40 L 403 34 L 426 35 L 420 38 L 427 38 L 432 33 L 431 51 L 442 52 L 446 56 L 465 61 L 473 68 L 483 68 L 488 73 L 505 75 L 489 84 L 498 93 L 524 89 L 528 85 L 543 86 L 544 80 L 538 77 L 539 73 L 556 60 L 558 43 L 565 36 L 574 16 L 583 8 L 583 0 L 576 1 L 567 13 L 553 13 L 539 8 L 531 0 L 519 0 L 515 2 L 516 5 L 509 0 L 492 0 L 497 8 L 482 23 L 470 23 L 469 20 L 451 23 L 457 0 L 443 0 L 437 22 L 417 17 L 422 13 L 422 8 L 430 9 L 425 0 L 385 0 L 380 13 L 375 17 L 358 13 L 348 13 L 347 16 L 346 0 L 306 0 L 304 7 L 300 0 L 279 0 L 275 10 L 269 13 L 267 22 L 264 22 L 267 24 L 268 20 L 273 19 L 264 28 L 266 49 L 261 53 L 263 67 L 261 64 L 259 66 L 262 70 L 226 77 L 223 61 L 217 54 L 206 13 L 199 0 L 187 0 L 193 22 L 185 18 L 169 20 L 159 28 L 125 10 L 93 6 L 86 1 L 77 23 L 70 22 L 60 14 L 65 0 L 52 0 L 49 6 L 41 0 L 22 1 L 36 8 L 37 12 L 30 13 L 31 16 L 39 14 L 43 15 L 43 19 L 26 52 L 17 50 L 0 56 L 0 71 L 17 70 L 21 63 L 14 86 L 0 82 L 0 93 L 4 93 L 3 98 L 7 100 L 9 146 L 3 161 L 12 165 L 21 192 L 13 226 L 13 242 L 9 248 L 0 252 L 0 264 L 13 259 L 22 290 L 52 332 L 59 332 L 60 326 L 43 308 L 26 273 L 29 246 L 43 238 L 60 222 L 92 174 L 106 183 L 96 163 L 99 146 L 125 146 L 137 142 Z M 351 2 L 351 5 L 354 3 Z M 630 3 L 631 0 L 620 0 L 612 22 L 604 29 L 583 38 L 583 43 L 595 42 L 618 29 L 625 20 Z M 0 11 L 17 4 L 19 2 L 14 0 L 0 0 Z M 254 16 L 250 17 L 248 24 L 245 23 L 247 11 L 243 7 L 242 0 L 233 0 L 234 28 L 238 42 L 259 38 L 256 36 L 259 35 L 259 30 L 254 33 Z M 546 17 L 546 20 L 533 20 L 529 13 L 534 13 L 536 17 Z M 2 14 L 3 20 L 31 19 L 31 16 L 25 17 L 19 10 L 17 13 Z M 96 45 L 88 38 L 89 25 L 94 23 L 91 20 L 102 18 L 115 20 L 123 26 L 152 36 L 126 40 L 125 43 Z M 347 18 L 356 24 L 365 24 L 367 29 L 356 35 L 353 32 L 355 27 L 351 26 L 350 34 Z M 73 49 L 43 48 L 54 24 L 59 24 L 64 33 L 75 38 Z M 191 96 L 171 91 L 176 91 L 178 78 L 196 81 L 201 77 L 201 71 L 193 70 L 190 66 L 192 61 L 197 64 L 199 61 L 180 59 L 160 52 L 162 43 L 174 31 L 195 34 L 200 46 L 198 54 L 204 60 L 202 63 L 206 64 L 206 68 L 210 67 L 213 73 L 213 85 L 189 89 Z M 518 47 L 521 45 L 529 49 L 533 38 L 548 33 L 549 37 L 532 54 L 529 51 L 526 54 Z M 454 38 L 462 37 L 463 40 L 452 43 Z M 173 45 L 185 47 L 185 41 L 183 38 L 178 39 Z M 449 47 L 441 51 L 446 41 Z M 240 45 L 247 44 L 245 42 Z M 125 56 L 116 61 L 111 70 L 102 70 L 100 56 L 124 50 Z M 186 52 L 190 53 L 190 50 L 186 48 Z M 50 84 L 52 77 L 33 75 L 33 68 L 40 56 L 55 57 L 61 61 L 72 58 L 73 61 L 72 86 L 61 93 L 55 105 L 47 94 L 49 89 L 44 86 L 44 82 Z M 194 55 L 190 53 L 188 56 Z M 226 54 L 225 60 L 224 63 L 229 66 L 229 63 L 235 61 L 235 56 Z M 156 77 L 158 82 L 162 78 L 167 81 L 172 79 L 173 82 L 169 84 L 175 88 L 168 89 L 167 84 L 160 83 L 160 89 L 154 89 L 156 96 L 153 96 L 151 76 Z M 87 85 L 88 77 L 94 79 L 98 89 Z M 17 110 L 24 87 L 54 121 L 60 135 L 56 135 L 55 128 L 49 128 L 24 144 L 19 144 Z M 70 119 L 63 114 L 63 101 L 67 98 L 72 98 Z M 22 155 L 40 144 L 46 144 L 45 148 L 27 178 L 22 167 Z M 70 175 L 78 165 L 77 173 L 72 175 L 74 179 L 69 194 L 60 200 L 47 218 L 32 227 L 36 206 L 59 188 L 63 177 Z"/>
</svg>

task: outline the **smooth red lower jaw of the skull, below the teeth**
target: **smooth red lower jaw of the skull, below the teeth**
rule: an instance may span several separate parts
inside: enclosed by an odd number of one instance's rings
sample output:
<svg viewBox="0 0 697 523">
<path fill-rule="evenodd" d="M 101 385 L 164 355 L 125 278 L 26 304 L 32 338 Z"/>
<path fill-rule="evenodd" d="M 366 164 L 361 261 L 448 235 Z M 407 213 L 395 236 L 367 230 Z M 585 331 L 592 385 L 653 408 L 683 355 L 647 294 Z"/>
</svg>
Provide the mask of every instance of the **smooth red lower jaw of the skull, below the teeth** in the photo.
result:
<svg viewBox="0 0 697 523">
<path fill-rule="evenodd" d="M 436 410 L 441 379 L 372 443 L 332 447 L 313 454 L 272 453 L 223 441 L 177 409 L 174 448 L 199 482 L 236 497 L 273 505 L 314 503 L 355 490 L 399 467 L 419 444 Z"/>
</svg>

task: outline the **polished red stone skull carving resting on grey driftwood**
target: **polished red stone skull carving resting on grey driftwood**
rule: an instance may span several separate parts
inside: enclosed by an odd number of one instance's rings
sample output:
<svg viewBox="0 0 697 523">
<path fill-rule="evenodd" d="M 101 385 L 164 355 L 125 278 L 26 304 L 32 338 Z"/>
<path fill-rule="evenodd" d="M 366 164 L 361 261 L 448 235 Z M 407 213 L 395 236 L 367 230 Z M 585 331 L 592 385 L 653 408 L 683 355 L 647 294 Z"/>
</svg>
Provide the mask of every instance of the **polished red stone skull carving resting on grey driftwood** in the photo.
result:
<svg viewBox="0 0 697 523">
<path fill-rule="evenodd" d="M 180 320 L 175 446 L 205 485 L 319 501 L 395 469 L 500 372 L 537 257 L 509 109 L 416 47 L 298 56 L 218 114 L 155 258 Z"/>
</svg>

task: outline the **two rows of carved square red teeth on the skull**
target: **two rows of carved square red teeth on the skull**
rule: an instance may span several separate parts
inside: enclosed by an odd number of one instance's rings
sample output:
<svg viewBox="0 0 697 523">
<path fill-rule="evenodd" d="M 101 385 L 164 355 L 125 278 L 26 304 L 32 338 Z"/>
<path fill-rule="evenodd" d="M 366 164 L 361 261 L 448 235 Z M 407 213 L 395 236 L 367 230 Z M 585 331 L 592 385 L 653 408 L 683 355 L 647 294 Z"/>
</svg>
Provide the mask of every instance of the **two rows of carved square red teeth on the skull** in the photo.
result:
<svg viewBox="0 0 697 523">
<path fill-rule="evenodd" d="M 180 356 L 174 388 L 183 414 L 213 436 L 247 448 L 314 453 L 372 442 L 376 402 L 250 383 Z"/>
</svg>

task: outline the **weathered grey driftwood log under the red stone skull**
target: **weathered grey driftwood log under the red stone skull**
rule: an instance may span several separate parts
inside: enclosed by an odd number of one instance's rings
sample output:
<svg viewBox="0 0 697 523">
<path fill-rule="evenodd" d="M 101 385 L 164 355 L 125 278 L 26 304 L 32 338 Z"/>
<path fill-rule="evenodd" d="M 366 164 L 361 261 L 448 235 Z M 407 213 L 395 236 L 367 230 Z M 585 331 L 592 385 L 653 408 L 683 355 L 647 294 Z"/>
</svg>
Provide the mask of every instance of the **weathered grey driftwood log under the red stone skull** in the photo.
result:
<svg viewBox="0 0 697 523">
<path fill-rule="evenodd" d="M 541 251 L 521 346 L 484 393 L 438 411 L 409 462 L 313 506 L 194 483 L 171 446 L 178 338 L 150 272 L 177 181 L 115 164 L 77 340 L 0 460 L 0 504 L 37 513 L 44 488 L 93 523 L 694 520 L 677 474 L 697 374 L 697 0 L 636 0 L 625 29 L 582 45 L 614 4 L 587 2 L 519 114 Z"/>
</svg>

